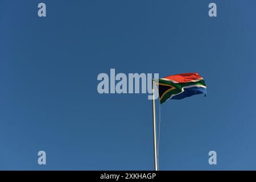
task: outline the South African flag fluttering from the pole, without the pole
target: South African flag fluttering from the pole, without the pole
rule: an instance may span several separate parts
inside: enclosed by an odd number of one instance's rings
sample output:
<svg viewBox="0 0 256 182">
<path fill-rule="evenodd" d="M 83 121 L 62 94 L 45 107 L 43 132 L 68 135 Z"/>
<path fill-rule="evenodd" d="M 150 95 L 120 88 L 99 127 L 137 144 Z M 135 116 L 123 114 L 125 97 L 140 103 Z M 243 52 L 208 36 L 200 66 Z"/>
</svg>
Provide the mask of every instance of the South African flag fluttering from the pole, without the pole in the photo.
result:
<svg viewBox="0 0 256 182">
<path fill-rule="evenodd" d="M 175 99 L 180 100 L 195 94 L 207 94 L 204 78 L 199 73 L 183 73 L 155 80 L 158 85 L 160 104 Z"/>
</svg>

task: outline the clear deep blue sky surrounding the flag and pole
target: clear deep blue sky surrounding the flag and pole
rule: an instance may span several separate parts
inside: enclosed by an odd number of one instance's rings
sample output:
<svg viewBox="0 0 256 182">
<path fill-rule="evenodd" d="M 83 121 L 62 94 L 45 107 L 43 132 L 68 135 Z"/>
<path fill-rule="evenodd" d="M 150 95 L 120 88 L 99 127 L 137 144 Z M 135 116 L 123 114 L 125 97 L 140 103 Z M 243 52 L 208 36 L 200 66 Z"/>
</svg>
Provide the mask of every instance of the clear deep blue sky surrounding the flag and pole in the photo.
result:
<svg viewBox="0 0 256 182">
<path fill-rule="evenodd" d="M 207 97 L 161 107 L 160 169 L 256 169 L 255 7 L 0 0 L 0 169 L 154 169 L 151 101 L 98 94 L 97 75 L 110 68 L 205 78 Z"/>
</svg>

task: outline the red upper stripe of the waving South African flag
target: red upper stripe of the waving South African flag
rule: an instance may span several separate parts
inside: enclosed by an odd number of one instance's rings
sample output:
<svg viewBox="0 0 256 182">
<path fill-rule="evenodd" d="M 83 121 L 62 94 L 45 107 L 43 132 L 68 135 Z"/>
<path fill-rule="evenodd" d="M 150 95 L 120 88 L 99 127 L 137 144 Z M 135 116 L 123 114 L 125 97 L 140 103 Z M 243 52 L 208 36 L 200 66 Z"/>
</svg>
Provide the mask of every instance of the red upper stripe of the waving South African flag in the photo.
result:
<svg viewBox="0 0 256 182">
<path fill-rule="evenodd" d="M 189 82 L 192 80 L 197 80 L 201 78 L 201 76 L 198 73 L 182 73 L 178 75 L 170 75 L 164 78 L 167 78 L 169 80 L 174 80 L 177 82 Z"/>
</svg>

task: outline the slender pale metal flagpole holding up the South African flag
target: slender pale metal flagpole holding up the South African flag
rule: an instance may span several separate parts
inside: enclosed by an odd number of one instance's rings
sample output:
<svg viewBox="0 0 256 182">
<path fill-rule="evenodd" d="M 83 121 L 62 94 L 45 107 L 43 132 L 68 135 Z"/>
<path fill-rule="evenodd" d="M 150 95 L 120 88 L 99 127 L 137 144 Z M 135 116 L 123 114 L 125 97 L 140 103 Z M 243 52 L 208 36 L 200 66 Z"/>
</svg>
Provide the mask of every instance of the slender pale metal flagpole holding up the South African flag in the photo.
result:
<svg viewBox="0 0 256 182">
<path fill-rule="evenodd" d="M 155 171 L 158 171 L 158 155 L 156 150 L 156 122 L 155 122 L 155 89 L 154 89 L 154 79 L 152 79 L 152 109 L 153 109 L 153 133 L 154 133 L 154 161 L 155 161 Z"/>
</svg>

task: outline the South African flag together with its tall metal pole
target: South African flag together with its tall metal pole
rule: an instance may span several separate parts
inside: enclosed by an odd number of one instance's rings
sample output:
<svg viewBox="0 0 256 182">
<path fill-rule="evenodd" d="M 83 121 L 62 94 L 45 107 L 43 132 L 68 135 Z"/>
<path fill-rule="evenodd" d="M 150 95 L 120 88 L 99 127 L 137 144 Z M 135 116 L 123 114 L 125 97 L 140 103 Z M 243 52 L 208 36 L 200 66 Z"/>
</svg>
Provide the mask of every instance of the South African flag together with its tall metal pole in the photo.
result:
<svg viewBox="0 0 256 182">
<path fill-rule="evenodd" d="M 196 94 L 207 94 L 207 86 L 204 78 L 199 73 L 182 73 L 164 78 L 152 79 L 152 113 L 153 113 L 153 139 L 154 139 L 154 163 L 155 171 L 158 171 L 158 147 L 156 142 L 156 119 L 155 119 L 155 88 L 158 86 L 158 98 L 160 104 L 168 100 L 181 100 Z"/>
</svg>

